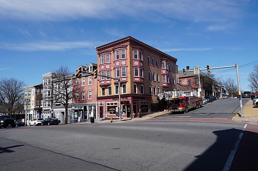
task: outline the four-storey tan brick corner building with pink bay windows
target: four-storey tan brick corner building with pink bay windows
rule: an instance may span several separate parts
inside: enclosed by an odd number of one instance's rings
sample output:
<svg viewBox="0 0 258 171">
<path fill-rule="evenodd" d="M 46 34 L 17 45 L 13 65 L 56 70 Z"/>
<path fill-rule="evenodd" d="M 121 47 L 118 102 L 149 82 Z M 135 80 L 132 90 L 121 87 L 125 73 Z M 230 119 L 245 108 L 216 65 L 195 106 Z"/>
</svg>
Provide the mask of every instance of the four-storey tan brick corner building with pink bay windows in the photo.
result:
<svg viewBox="0 0 258 171">
<path fill-rule="evenodd" d="M 122 118 L 150 113 L 157 94 L 172 91 L 178 82 L 177 59 L 131 36 L 96 47 L 98 71 L 121 81 Z M 98 118 L 116 117 L 118 81 L 99 77 Z"/>
</svg>

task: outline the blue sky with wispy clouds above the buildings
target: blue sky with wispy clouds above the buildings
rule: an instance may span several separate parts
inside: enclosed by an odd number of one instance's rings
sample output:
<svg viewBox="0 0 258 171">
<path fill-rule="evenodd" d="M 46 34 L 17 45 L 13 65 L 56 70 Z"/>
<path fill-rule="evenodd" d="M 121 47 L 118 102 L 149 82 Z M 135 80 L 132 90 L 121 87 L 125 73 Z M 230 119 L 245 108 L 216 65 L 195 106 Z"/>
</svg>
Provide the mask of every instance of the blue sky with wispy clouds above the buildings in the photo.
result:
<svg viewBox="0 0 258 171">
<path fill-rule="evenodd" d="M 1 0 L 0 77 L 27 85 L 67 65 L 96 63 L 95 46 L 126 36 L 189 65 L 241 66 L 258 60 L 257 1 Z M 253 65 L 239 69 L 241 89 Z M 235 70 L 216 74 L 232 77 Z"/>
</svg>

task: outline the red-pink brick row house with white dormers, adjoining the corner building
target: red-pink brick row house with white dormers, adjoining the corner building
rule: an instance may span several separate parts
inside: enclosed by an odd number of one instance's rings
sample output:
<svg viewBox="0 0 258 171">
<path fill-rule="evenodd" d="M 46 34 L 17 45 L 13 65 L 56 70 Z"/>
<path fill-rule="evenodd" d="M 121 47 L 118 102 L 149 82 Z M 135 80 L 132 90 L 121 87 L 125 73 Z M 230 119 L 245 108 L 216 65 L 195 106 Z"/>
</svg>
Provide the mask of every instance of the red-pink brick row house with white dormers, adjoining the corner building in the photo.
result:
<svg viewBox="0 0 258 171">
<path fill-rule="evenodd" d="M 87 66 L 80 65 L 82 71 L 92 73 L 97 69 L 96 63 L 89 63 Z M 75 98 L 72 100 L 71 110 L 82 119 L 94 117 L 96 119 L 96 79 L 92 74 L 82 74 L 80 78 L 73 77 L 75 83 Z"/>
</svg>

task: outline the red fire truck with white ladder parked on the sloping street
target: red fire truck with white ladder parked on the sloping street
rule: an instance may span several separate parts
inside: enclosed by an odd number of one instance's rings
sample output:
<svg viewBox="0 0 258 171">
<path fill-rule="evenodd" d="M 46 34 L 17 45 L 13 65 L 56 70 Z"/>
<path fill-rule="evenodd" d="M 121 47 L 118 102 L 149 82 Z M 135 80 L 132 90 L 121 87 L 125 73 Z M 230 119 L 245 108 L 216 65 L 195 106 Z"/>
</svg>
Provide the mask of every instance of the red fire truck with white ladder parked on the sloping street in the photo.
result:
<svg viewBox="0 0 258 171">
<path fill-rule="evenodd" d="M 168 111 L 187 113 L 189 109 L 202 106 L 202 97 L 198 97 L 197 91 L 169 91 L 161 94 L 165 98 Z"/>
</svg>

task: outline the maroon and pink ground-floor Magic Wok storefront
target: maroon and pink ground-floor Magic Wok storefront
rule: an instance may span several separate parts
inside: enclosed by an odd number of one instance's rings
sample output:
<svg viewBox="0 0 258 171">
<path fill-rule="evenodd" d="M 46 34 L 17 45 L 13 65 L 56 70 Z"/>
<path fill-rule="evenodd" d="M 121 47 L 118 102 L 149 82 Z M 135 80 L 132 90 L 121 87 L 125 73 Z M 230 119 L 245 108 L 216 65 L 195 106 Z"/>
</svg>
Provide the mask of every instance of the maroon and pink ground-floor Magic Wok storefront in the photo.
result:
<svg viewBox="0 0 258 171">
<path fill-rule="evenodd" d="M 116 116 L 118 96 L 98 97 L 98 118 L 119 118 Z M 148 95 L 121 95 L 121 117 L 136 118 L 139 114 L 150 113 L 151 96 Z"/>
</svg>

